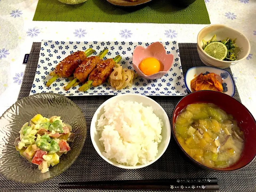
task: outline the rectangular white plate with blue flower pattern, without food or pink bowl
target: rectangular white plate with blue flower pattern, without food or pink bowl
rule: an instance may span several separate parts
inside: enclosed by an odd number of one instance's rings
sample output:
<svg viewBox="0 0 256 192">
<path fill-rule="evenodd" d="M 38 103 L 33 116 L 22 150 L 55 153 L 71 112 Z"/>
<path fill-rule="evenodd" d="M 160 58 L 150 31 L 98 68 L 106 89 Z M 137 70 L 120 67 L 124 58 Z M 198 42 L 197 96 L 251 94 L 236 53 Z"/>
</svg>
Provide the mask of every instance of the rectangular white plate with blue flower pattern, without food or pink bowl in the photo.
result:
<svg viewBox="0 0 256 192">
<path fill-rule="evenodd" d="M 170 71 L 159 79 L 145 79 L 139 76 L 135 79 L 131 88 L 122 90 L 115 90 L 109 83 L 103 83 L 98 87 L 91 87 L 86 92 L 78 90 L 79 86 L 72 87 L 70 90 L 65 91 L 66 86 L 70 79 L 59 78 L 50 87 L 46 86 L 46 82 L 51 78 L 49 73 L 54 70 L 62 59 L 75 51 L 85 51 L 86 49 L 93 48 L 96 50 L 94 55 L 98 55 L 103 49 L 108 49 L 109 52 L 106 58 L 114 58 L 120 54 L 123 68 L 134 70 L 132 66 L 133 50 L 137 45 L 144 47 L 149 46 L 150 42 L 118 42 L 118 41 L 93 41 L 93 42 L 65 42 L 65 41 L 48 41 L 43 40 L 39 55 L 39 61 L 35 79 L 33 82 L 30 95 L 35 93 L 58 93 L 65 96 L 81 96 L 81 95 L 118 95 L 124 93 L 137 93 L 142 95 L 186 95 L 187 89 L 184 82 L 184 77 L 181 69 L 181 62 L 179 58 L 179 47 L 176 41 L 162 42 L 168 54 L 174 55 L 174 63 Z"/>
</svg>

